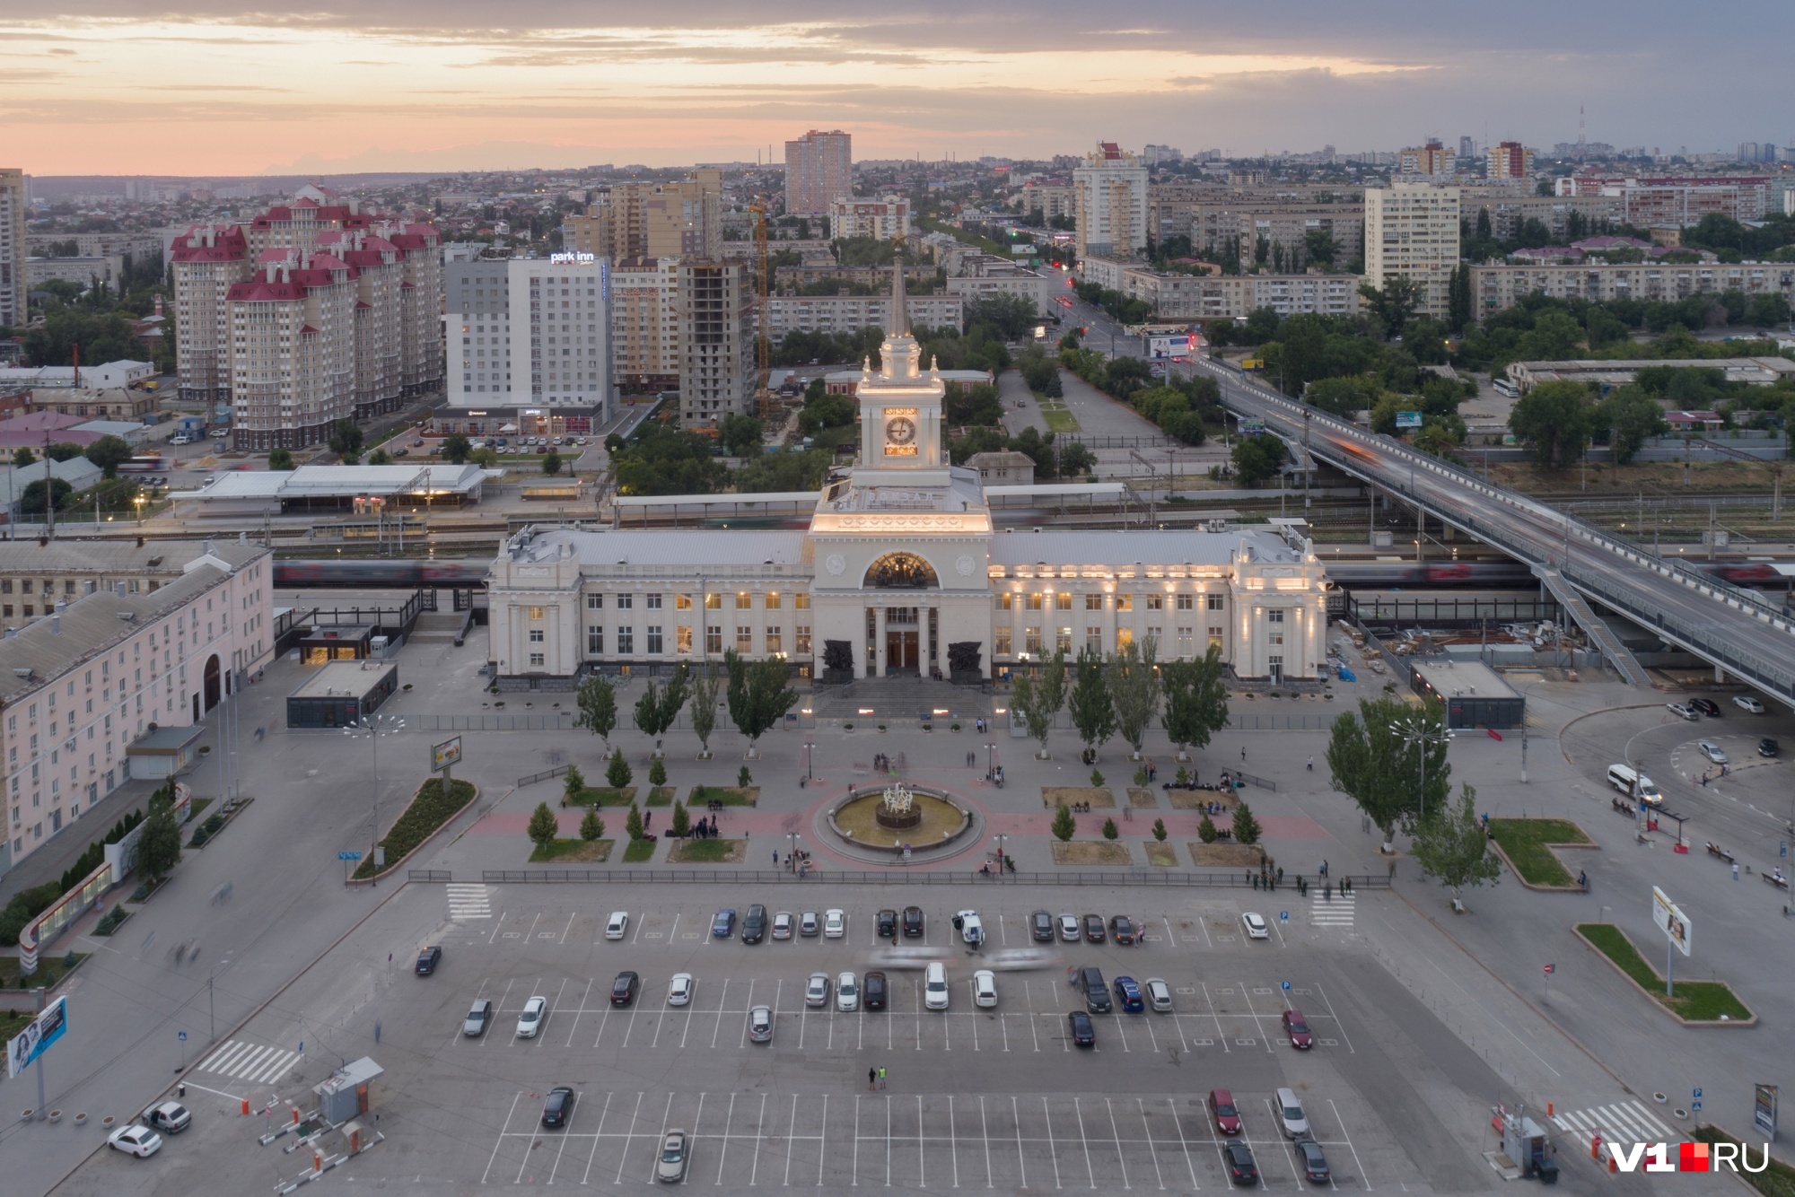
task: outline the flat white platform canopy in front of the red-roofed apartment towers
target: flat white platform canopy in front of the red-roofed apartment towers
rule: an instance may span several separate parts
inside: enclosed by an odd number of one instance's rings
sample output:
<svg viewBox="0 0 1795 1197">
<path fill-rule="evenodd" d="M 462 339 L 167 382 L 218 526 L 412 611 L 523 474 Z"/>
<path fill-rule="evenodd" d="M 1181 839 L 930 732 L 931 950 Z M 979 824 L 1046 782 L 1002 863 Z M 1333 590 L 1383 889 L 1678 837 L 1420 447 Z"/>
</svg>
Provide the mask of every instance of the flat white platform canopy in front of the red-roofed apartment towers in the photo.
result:
<svg viewBox="0 0 1795 1197">
<path fill-rule="evenodd" d="M 224 470 L 197 490 L 169 499 L 181 517 L 280 515 L 287 511 L 413 511 L 479 502 L 486 472 L 477 465 L 302 465 L 296 470 Z"/>
</svg>

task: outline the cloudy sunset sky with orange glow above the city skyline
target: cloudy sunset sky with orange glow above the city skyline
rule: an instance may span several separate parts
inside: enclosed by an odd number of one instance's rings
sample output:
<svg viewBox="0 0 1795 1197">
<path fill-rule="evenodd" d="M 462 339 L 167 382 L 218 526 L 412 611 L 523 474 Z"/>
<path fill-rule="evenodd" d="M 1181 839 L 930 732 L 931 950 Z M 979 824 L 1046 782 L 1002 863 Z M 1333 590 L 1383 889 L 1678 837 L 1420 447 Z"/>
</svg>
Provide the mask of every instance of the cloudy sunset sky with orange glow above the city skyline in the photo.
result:
<svg viewBox="0 0 1795 1197">
<path fill-rule="evenodd" d="M 0 0 L 0 158 L 32 174 L 1231 154 L 1422 136 L 1795 142 L 1786 4 Z M 494 27 L 503 13 L 506 27 Z M 1495 25 L 1495 27 L 1486 27 Z"/>
</svg>

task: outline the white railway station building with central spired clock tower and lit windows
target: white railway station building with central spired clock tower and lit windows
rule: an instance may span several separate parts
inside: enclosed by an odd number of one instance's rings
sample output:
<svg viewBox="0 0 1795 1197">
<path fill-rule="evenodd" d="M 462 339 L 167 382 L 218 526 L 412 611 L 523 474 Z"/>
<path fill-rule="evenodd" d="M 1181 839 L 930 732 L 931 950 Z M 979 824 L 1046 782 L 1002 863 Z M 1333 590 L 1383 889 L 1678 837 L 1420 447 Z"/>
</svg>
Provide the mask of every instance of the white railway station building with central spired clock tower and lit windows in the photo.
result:
<svg viewBox="0 0 1795 1197">
<path fill-rule="evenodd" d="M 898 284 L 901 285 L 901 284 Z M 1217 644 L 1242 678 L 1312 678 L 1325 659 L 1323 567 L 1262 531 L 996 533 L 978 474 L 950 465 L 946 384 L 898 327 L 863 371 L 858 465 L 817 494 L 808 529 L 526 529 L 494 562 L 494 677 L 784 657 L 820 677 L 829 641 L 854 677 L 948 677 L 948 646 L 1000 677 L 1055 648 Z M 673 499 L 668 499 L 673 502 Z"/>
</svg>

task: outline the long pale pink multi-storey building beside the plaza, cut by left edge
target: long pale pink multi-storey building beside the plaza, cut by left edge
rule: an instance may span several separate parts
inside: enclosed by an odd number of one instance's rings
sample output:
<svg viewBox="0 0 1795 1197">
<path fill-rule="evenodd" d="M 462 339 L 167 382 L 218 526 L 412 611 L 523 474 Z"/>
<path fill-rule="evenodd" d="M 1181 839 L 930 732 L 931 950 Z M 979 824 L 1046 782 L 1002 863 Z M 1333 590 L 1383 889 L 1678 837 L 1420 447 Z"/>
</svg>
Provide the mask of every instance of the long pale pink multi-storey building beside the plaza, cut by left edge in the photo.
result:
<svg viewBox="0 0 1795 1197">
<path fill-rule="evenodd" d="M 81 596 L 5 628 L 0 872 L 131 781 L 135 741 L 197 725 L 233 678 L 271 659 L 271 562 L 267 549 L 206 542 L 174 581 L 149 580 L 145 590 L 133 576 L 99 589 L 90 578 Z"/>
</svg>

